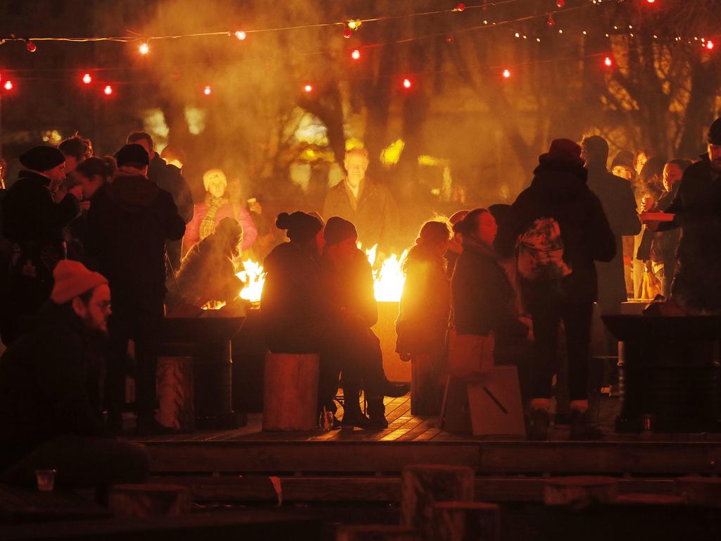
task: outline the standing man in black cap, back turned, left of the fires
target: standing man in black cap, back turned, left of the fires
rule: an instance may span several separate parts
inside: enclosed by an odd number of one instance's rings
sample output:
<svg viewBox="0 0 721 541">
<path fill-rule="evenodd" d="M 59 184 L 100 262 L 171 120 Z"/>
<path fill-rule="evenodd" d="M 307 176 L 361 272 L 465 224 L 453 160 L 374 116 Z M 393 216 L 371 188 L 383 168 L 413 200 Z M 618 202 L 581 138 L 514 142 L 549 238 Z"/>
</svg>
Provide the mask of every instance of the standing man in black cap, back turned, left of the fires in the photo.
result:
<svg viewBox="0 0 721 541">
<path fill-rule="evenodd" d="M 154 419 L 156 340 L 163 320 L 165 242 L 182 238 L 185 222 L 172 196 L 146 177 L 149 159 L 141 145 L 115 154 L 118 172 L 95 194 L 88 212 L 87 252 L 94 255 L 112 291 L 112 362 L 108 366 L 108 408 L 120 428 L 125 352 L 135 343 L 138 430 L 159 431 Z"/>
</svg>

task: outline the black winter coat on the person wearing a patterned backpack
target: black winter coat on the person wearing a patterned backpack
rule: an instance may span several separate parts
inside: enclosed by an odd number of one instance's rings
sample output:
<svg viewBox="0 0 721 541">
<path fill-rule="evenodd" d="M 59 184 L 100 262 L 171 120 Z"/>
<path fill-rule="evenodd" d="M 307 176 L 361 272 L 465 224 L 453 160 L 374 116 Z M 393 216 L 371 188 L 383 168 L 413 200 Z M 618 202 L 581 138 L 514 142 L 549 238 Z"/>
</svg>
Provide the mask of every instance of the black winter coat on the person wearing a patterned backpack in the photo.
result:
<svg viewBox="0 0 721 541">
<path fill-rule="evenodd" d="M 594 261 L 611 261 L 616 240 L 596 194 L 588 189 L 588 172 L 580 164 L 541 160 L 530 188 L 518 195 L 498 231 L 495 247 L 505 257 L 516 250 L 518 237 L 536 219 L 552 217 L 559 223 L 563 259 L 572 273 L 559 281 L 526 282 L 522 278 L 523 301 L 594 302 L 598 283 Z"/>
</svg>

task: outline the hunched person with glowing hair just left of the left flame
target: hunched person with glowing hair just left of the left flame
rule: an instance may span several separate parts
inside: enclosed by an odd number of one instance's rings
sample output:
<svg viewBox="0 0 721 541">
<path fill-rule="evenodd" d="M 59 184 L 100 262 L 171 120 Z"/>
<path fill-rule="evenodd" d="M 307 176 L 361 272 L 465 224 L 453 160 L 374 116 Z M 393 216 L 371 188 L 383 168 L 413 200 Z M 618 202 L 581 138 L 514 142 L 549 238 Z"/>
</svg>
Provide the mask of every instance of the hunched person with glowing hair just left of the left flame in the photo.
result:
<svg viewBox="0 0 721 541">
<path fill-rule="evenodd" d="M 193 246 L 177 274 L 180 300 L 203 307 L 211 301 L 229 304 L 239 299 L 243 283 L 236 276 L 233 258 L 240 254 L 242 242 L 242 226 L 234 218 L 224 218 L 213 234 Z"/>
</svg>

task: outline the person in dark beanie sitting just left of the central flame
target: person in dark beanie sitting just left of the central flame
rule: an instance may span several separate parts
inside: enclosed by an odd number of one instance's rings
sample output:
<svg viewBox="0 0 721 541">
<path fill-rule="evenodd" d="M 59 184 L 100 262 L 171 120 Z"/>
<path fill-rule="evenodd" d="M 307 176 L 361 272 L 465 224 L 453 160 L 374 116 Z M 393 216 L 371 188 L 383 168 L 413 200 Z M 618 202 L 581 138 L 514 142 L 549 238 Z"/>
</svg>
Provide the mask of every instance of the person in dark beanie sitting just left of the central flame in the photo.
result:
<svg viewBox="0 0 721 541">
<path fill-rule="evenodd" d="M 332 335 L 340 338 L 332 354 L 339 359 L 342 370 L 345 397 L 342 423 L 359 428 L 386 428 L 383 397 L 403 396 L 408 387 L 386 378 L 381 343 L 371 330 L 378 322 L 373 270 L 366 255 L 358 250 L 358 232 L 350 221 L 333 216 L 328 219 L 323 237 L 324 290 L 335 326 Z M 335 383 L 337 389 L 337 375 Z M 366 392 L 368 418 L 358 403 L 361 388 Z"/>
</svg>

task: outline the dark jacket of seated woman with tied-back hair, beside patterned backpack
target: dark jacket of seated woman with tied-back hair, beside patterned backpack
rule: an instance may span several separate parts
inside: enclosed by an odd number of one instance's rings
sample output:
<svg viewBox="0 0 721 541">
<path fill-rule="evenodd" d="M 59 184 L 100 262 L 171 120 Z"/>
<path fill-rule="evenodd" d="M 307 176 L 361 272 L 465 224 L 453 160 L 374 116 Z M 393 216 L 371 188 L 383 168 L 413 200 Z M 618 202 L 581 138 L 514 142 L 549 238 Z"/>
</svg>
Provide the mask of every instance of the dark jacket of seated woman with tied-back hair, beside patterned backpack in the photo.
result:
<svg viewBox="0 0 721 541">
<path fill-rule="evenodd" d="M 518 321 L 516 293 L 492 248 L 464 239 L 451 294 L 456 333 L 486 336 L 493 332 L 497 342 L 505 344 L 528 335 L 528 327 Z"/>
</svg>

